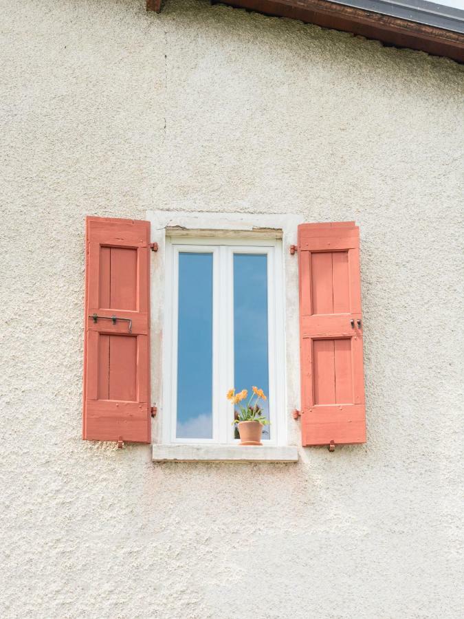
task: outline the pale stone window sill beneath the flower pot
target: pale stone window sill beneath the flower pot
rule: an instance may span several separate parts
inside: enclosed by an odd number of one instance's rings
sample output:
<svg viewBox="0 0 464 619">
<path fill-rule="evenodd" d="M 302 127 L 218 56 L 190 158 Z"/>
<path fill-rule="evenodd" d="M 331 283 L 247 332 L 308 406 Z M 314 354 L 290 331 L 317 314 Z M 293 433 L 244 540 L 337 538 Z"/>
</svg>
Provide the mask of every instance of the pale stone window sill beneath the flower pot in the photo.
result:
<svg viewBox="0 0 464 619">
<path fill-rule="evenodd" d="M 154 462 L 296 462 L 296 446 L 153 445 Z"/>
</svg>

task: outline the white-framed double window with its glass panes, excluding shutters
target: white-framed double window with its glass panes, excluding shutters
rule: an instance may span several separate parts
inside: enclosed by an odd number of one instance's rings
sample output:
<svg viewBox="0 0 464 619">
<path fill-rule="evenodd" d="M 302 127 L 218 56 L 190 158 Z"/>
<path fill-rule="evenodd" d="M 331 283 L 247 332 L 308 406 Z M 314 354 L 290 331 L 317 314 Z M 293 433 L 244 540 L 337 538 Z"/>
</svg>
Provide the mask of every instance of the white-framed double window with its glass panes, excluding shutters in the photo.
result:
<svg viewBox="0 0 464 619">
<path fill-rule="evenodd" d="M 166 239 L 164 442 L 233 443 L 229 389 L 263 389 L 263 444 L 285 444 L 281 241 Z"/>
</svg>

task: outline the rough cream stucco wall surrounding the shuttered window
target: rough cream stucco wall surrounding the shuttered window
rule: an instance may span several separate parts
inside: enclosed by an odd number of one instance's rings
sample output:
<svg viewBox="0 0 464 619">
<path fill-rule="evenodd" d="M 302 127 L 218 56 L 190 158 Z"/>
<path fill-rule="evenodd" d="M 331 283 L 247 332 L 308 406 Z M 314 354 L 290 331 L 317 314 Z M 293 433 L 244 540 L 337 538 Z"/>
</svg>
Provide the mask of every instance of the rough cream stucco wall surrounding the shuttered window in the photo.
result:
<svg viewBox="0 0 464 619">
<path fill-rule="evenodd" d="M 463 67 L 206 2 L 0 15 L 1 617 L 459 616 Z M 83 219 L 155 209 L 356 219 L 366 446 L 82 442 Z"/>
</svg>

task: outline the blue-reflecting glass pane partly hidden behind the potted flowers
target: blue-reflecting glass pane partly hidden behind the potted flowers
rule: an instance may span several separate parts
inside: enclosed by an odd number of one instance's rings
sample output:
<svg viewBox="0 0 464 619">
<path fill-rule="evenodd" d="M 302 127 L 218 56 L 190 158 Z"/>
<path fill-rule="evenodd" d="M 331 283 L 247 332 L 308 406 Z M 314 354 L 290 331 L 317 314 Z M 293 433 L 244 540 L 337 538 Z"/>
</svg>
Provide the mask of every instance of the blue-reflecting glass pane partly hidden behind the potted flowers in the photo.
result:
<svg viewBox="0 0 464 619">
<path fill-rule="evenodd" d="M 234 387 L 269 395 L 267 354 L 267 255 L 234 254 Z M 259 400 L 269 418 L 269 400 Z M 238 435 L 236 434 L 236 438 Z M 263 439 L 270 437 L 263 426 Z"/>
</svg>

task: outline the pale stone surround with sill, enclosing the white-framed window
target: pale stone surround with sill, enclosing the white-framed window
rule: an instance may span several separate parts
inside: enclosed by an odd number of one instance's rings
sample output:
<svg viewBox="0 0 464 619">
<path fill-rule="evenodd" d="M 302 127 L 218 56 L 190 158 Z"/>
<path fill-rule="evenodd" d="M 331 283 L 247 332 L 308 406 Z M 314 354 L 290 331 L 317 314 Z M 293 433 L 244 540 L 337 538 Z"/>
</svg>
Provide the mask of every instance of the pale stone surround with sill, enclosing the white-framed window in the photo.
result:
<svg viewBox="0 0 464 619">
<path fill-rule="evenodd" d="M 157 416 L 153 422 L 153 461 L 263 461 L 289 462 L 298 459 L 300 435 L 291 411 L 300 401 L 299 325 L 298 325 L 298 260 L 291 256 L 289 246 L 296 243 L 301 215 L 284 213 L 192 213 L 188 211 L 148 210 L 151 222 L 151 242 L 159 250 L 151 261 L 151 387 Z M 250 447 L 221 444 L 168 444 L 163 441 L 163 372 L 166 367 L 163 350 L 165 303 L 166 235 L 181 237 L 247 237 L 280 238 L 283 243 L 283 282 L 285 287 L 285 417 L 287 444 Z"/>
</svg>

